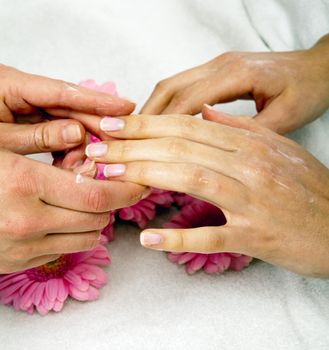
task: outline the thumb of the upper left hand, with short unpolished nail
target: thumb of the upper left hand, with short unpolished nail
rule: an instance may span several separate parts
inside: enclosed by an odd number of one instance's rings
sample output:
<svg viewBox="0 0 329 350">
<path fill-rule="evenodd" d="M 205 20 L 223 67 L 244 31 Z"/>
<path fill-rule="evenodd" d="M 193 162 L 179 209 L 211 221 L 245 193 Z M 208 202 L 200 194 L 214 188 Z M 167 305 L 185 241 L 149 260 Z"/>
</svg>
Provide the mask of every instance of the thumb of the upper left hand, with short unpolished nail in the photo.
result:
<svg viewBox="0 0 329 350">
<path fill-rule="evenodd" d="M 74 120 L 0 124 L 0 147 L 19 154 L 62 151 L 80 145 L 84 138 L 84 127 Z"/>
</svg>

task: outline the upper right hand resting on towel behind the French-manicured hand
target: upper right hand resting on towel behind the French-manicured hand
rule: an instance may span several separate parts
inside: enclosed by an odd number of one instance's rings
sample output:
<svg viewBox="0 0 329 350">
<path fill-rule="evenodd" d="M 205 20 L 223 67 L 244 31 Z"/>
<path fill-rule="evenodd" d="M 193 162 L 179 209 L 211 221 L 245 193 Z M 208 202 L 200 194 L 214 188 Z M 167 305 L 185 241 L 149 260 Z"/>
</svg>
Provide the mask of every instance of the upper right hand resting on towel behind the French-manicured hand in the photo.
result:
<svg viewBox="0 0 329 350">
<path fill-rule="evenodd" d="M 143 114 L 197 114 L 203 104 L 249 96 L 256 119 L 284 134 L 329 108 L 329 34 L 295 52 L 228 52 L 160 81 Z"/>
</svg>

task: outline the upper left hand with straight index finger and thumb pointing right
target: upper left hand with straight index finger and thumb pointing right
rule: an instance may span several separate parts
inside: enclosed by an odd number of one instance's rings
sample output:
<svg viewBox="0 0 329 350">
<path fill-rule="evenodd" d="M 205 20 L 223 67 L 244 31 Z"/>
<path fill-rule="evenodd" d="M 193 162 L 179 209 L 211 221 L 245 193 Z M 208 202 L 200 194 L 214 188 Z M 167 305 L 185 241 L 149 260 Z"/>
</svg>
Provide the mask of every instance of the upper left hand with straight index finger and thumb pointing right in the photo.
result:
<svg viewBox="0 0 329 350">
<path fill-rule="evenodd" d="M 0 147 L 15 153 L 74 148 L 83 143 L 85 128 L 99 132 L 99 116 L 130 114 L 134 107 L 116 96 L 0 65 Z M 48 121 L 54 118 L 60 119 Z"/>
</svg>

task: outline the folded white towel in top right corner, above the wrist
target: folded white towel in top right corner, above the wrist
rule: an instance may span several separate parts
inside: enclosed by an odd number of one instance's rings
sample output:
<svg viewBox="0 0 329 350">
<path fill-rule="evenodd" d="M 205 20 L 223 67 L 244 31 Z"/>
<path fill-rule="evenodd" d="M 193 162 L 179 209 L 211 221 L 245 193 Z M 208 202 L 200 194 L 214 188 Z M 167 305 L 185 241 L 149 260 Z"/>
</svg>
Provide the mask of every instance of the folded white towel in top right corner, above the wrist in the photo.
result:
<svg viewBox="0 0 329 350">
<path fill-rule="evenodd" d="M 243 0 L 250 21 L 273 51 L 309 48 L 329 33 L 328 0 Z"/>
</svg>

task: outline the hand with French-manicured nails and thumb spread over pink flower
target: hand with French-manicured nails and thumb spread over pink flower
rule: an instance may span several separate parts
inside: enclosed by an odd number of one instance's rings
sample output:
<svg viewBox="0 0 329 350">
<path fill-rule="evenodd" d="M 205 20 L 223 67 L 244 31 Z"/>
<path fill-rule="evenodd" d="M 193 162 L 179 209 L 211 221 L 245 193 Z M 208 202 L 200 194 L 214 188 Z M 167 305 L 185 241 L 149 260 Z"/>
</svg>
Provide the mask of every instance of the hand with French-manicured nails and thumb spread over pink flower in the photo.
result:
<svg viewBox="0 0 329 350">
<path fill-rule="evenodd" d="M 223 210 L 221 227 L 147 229 L 147 248 L 236 252 L 292 271 L 329 276 L 329 170 L 252 118 L 130 116 L 104 119 L 120 139 L 87 147 L 111 180 L 188 193 Z M 114 131 L 117 129 L 117 131 Z"/>
</svg>

